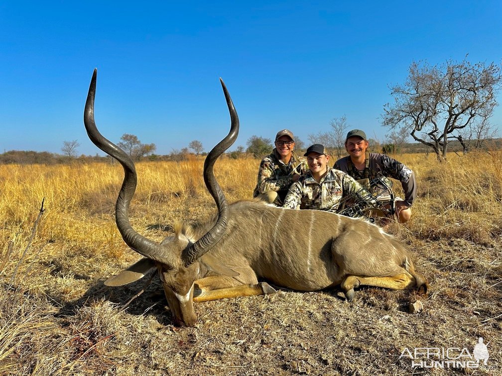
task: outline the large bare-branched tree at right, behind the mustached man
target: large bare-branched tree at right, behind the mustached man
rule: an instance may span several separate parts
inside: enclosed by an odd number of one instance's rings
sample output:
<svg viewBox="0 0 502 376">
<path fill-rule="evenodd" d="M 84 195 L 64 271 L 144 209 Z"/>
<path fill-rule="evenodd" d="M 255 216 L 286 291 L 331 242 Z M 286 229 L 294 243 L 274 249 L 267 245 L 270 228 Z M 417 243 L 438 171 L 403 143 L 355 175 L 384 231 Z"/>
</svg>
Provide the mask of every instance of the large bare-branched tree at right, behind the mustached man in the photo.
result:
<svg viewBox="0 0 502 376">
<path fill-rule="evenodd" d="M 501 82 L 500 66 L 494 63 L 413 62 L 405 83 L 391 87 L 394 103 L 384 106 L 383 124 L 406 128 L 444 160 L 449 141 L 480 117 L 491 117 Z"/>
</svg>

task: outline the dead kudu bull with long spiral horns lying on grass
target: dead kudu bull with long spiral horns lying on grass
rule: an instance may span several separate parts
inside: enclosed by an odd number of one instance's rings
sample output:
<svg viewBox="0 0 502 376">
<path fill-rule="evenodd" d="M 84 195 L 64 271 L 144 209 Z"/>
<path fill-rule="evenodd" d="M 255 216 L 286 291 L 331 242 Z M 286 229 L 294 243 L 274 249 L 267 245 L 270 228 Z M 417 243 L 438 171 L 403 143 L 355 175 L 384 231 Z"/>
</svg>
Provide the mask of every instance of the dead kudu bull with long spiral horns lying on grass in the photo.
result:
<svg viewBox="0 0 502 376">
<path fill-rule="evenodd" d="M 92 142 L 124 169 L 115 207 L 116 224 L 127 245 L 146 257 L 105 283 L 120 286 L 157 267 L 174 321 L 188 326 L 197 321 L 193 301 L 275 292 L 267 283 L 258 283 L 259 278 L 300 291 L 341 284 L 348 300 L 360 285 L 417 287 L 425 292 L 426 280 L 415 272 L 405 247 L 375 225 L 328 212 L 276 208 L 259 201 L 227 204 L 213 166 L 237 138 L 239 120 L 221 84 L 230 112 L 230 132 L 204 162 L 204 181 L 218 214 L 196 227 L 179 224 L 175 235 L 157 243 L 139 234 L 129 221 L 136 169 L 131 158 L 96 128 L 94 71 L 85 104 L 85 128 Z"/>
</svg>

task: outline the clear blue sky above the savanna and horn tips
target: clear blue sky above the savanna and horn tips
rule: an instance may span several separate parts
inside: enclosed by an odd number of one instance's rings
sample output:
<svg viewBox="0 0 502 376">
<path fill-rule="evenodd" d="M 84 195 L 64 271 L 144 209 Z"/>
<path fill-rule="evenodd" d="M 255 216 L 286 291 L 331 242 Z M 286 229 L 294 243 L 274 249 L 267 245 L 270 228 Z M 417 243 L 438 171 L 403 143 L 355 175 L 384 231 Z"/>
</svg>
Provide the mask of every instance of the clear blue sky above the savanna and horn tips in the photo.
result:
<svg viewBox="0 0 502 376">
<path fill-rule="evenodd" d="M 307 143 L 342 115 L 384 140 L 388 86 L 412 61 L 500 63 L 501 46 L 500 1 L 0 1 L 0 152 L 74 139 L 98 152 L 82 121 L 94 68 L 98 129 L 158 154 L 226 134 L 219 77 L 240 119 L 233 148 L 286 127 Z"/>
</svg>

